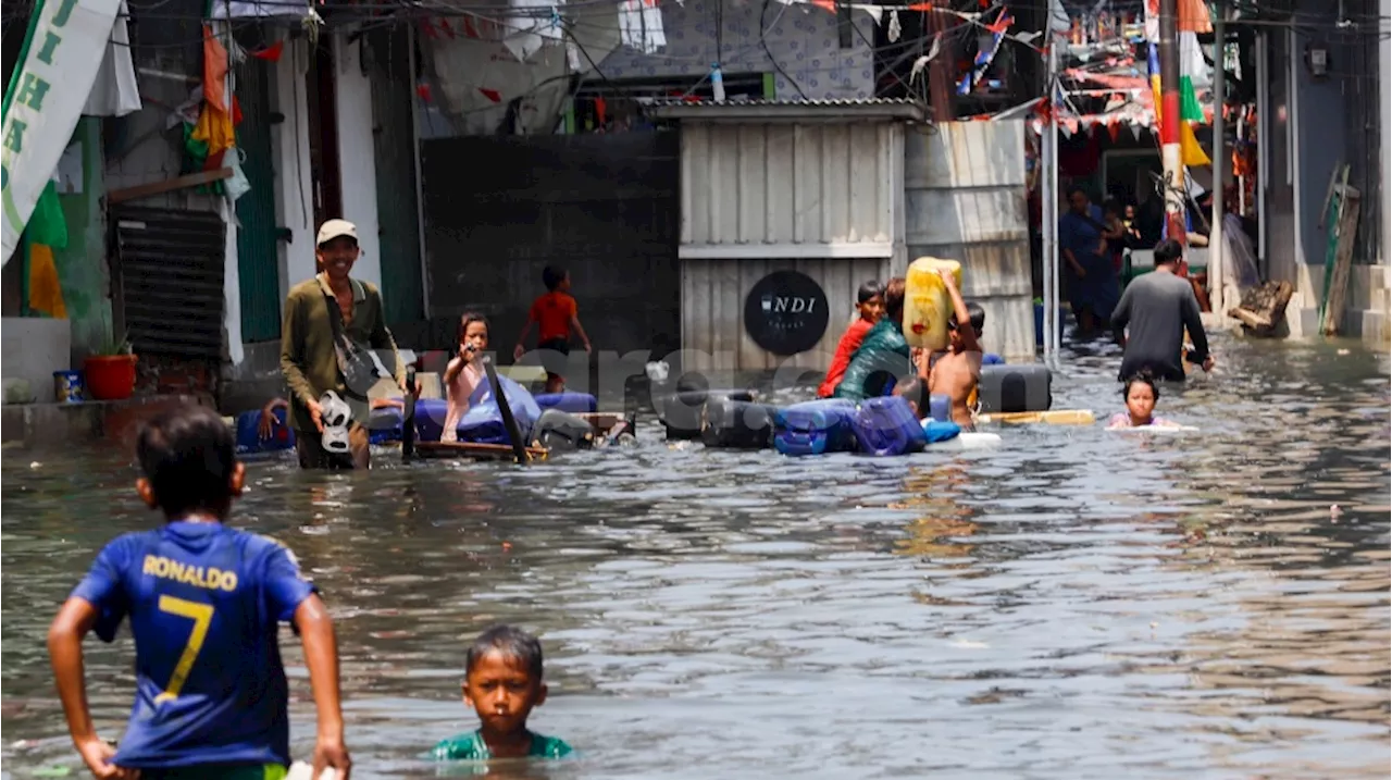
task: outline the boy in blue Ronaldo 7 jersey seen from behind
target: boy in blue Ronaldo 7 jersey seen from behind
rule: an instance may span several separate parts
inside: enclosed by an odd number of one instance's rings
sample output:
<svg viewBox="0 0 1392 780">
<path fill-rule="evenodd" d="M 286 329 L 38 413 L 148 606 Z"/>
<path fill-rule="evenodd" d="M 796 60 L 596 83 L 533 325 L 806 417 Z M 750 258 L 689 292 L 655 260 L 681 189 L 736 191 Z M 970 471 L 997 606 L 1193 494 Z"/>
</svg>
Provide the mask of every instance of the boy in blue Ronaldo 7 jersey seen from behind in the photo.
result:
<svg viewBox="0 0 1392 780">
<path fill-rule="evenodd" d="M 135 489 L 166 525 L 107 545 L 49 630 L 68 731 L 99 779 L 278 780 L 290 766 L 285 670 L 276 642 L 292 621 L 319 710 L 315 777 L 348 779 L 333 621 L 294 554 L 223 525 L 245 471 L 232 433 L 203 407 L 164 412 L 139 435 Z M 96 735 L 82 639 L 129 617 L 136 692 L 113 749 Z"/>
</svg>

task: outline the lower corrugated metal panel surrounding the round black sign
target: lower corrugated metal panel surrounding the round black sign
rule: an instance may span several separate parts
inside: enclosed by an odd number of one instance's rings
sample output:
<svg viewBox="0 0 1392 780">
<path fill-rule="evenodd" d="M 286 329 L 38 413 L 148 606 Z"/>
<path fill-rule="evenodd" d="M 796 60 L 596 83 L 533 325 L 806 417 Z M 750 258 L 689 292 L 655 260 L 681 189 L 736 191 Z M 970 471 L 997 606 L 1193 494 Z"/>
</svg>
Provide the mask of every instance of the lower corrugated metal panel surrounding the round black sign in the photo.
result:
<svg viewBox="0 0 1392 780">
<path fill-rule="evenodd" d="M 816 348 L 784 358 L 766 351 L 745 330 L 745 298 L 775 270 L 810 276 L 827 294 L 827 333 Z M 682 260 L 682 366 L 685 370 L 825 370 L 853 315 L 856 288 L 889 276 L 889 259 Z"/>
</svg>

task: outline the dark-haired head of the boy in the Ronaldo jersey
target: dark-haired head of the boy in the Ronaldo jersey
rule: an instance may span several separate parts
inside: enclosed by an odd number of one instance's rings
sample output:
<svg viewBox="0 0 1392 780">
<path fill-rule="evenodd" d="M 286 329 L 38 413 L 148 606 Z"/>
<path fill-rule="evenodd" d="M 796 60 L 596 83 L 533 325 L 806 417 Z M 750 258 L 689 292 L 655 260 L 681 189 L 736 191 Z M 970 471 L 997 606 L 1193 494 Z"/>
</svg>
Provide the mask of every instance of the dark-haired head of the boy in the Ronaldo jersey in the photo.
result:
<svg viewBox="0 0 1392 780">
<path fill-rule="evenodd" d="M 192 514 L 223 520 L 245 479 L 235 447 L 231 428 L 207 407 L 159 414 L 145 423 L 135 443 L 143 472 L 135 490 L 167 520 Z"/>
</svg>

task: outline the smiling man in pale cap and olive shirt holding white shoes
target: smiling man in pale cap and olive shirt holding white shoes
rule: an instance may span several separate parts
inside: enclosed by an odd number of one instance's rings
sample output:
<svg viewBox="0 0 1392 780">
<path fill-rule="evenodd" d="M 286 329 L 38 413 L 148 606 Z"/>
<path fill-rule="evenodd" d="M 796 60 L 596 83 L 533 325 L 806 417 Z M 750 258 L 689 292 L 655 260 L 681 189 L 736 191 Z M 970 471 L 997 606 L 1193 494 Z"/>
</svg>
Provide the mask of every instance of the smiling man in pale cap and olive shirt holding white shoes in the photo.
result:
<svg viewBox="0 0 1392 780">
<path fill-rule="evenodd" d="M 331 219 L 319 227 L 315 244 L 320 272 L 291 288 L 280 336 L 280 370 L 290 386 L 295 450 L 302 468 L 367 468 L 367 390 L 384 366 L 363 345 L 391 351 L 391 375 L 402 391 L 406 369 L 387 330 L 377 287 L 348 276 L 361 254 L 358 228 Z M 330 390 L 352 412 L 347 453 L 324 447 L 320 400 Z"/>
</svg>

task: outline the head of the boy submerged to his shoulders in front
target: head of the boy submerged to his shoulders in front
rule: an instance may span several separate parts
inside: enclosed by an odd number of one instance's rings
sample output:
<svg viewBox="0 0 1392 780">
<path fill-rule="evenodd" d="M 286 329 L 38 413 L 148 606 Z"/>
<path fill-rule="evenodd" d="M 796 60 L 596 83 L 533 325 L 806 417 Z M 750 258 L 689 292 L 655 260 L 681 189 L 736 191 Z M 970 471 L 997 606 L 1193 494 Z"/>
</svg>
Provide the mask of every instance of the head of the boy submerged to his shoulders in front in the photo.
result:
<svg viewBox="0 0 1392 780">
<path fill-rule="evenodd" d="M 486 737 L 526 733 L 532 709 L 546 702 L 541 644 L 511 625 L 494 625 L 465 656 L 464 703 L 479 713 Z"/>
</svg>

